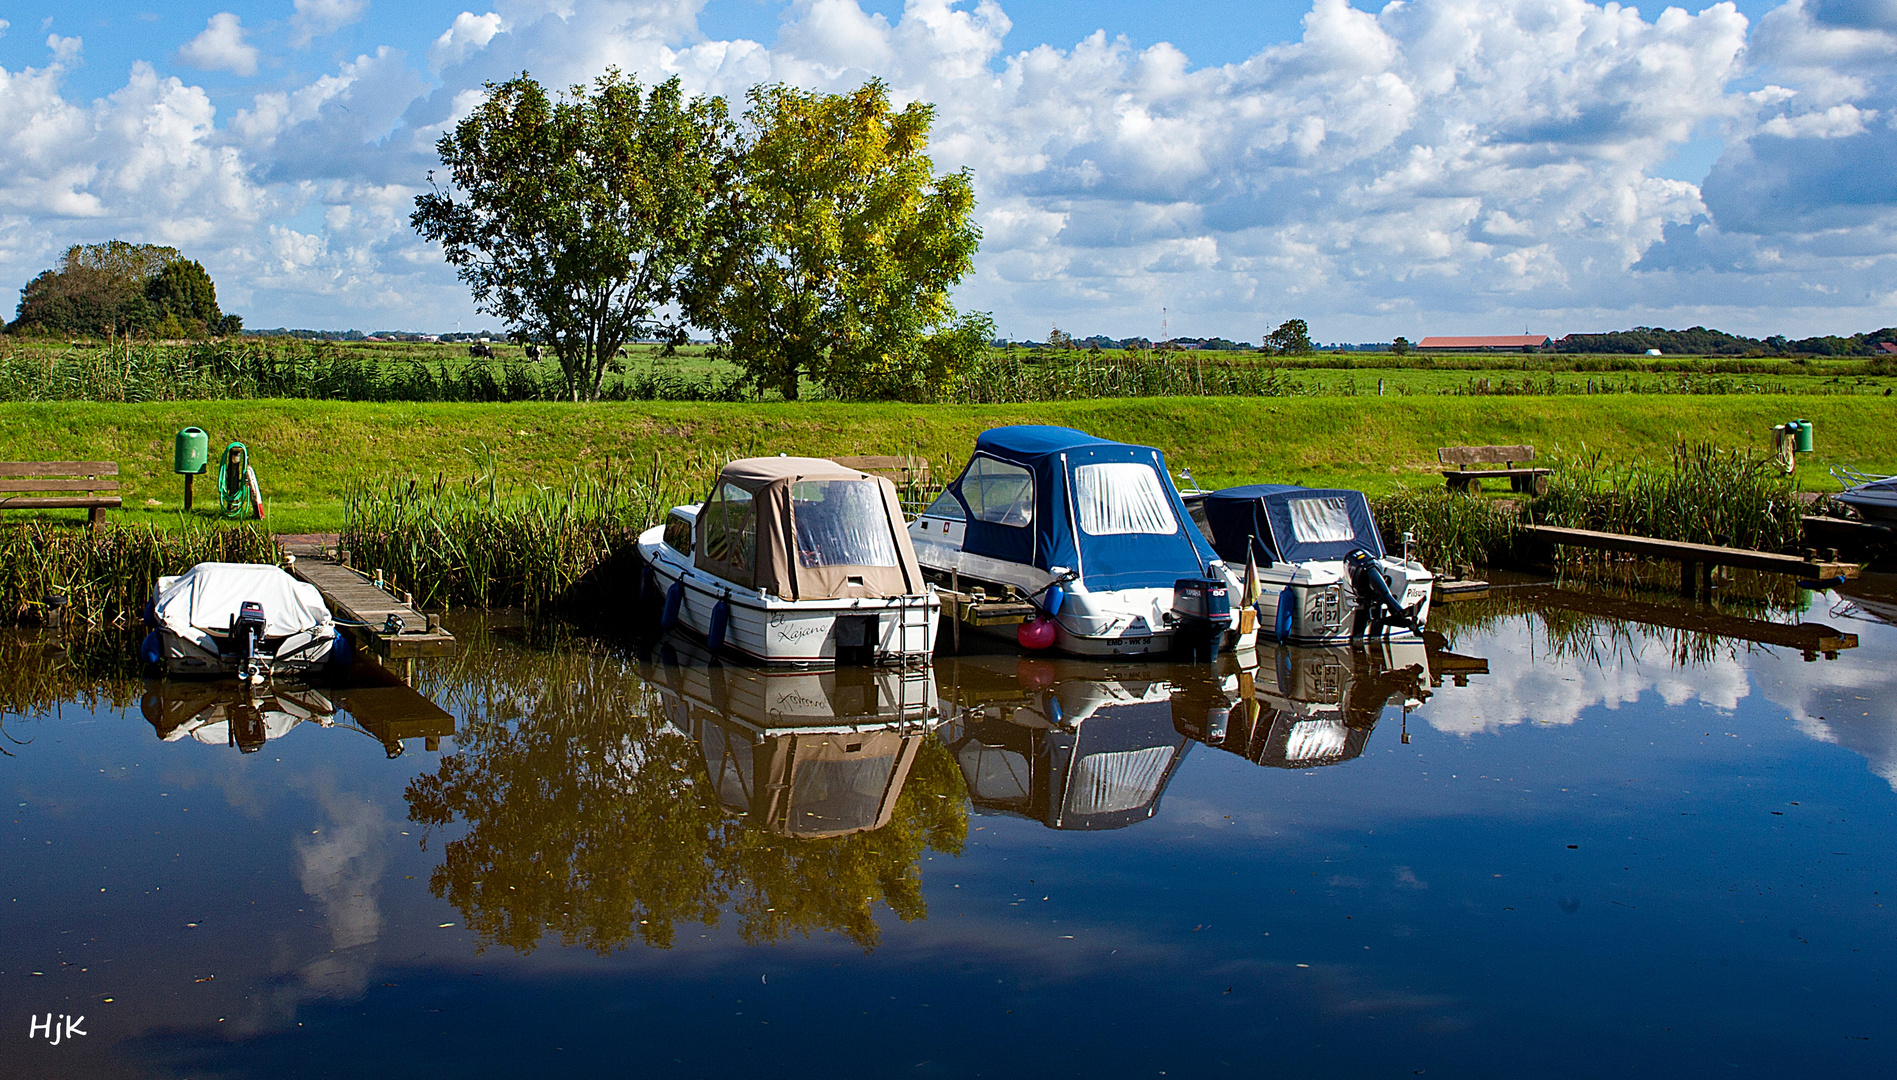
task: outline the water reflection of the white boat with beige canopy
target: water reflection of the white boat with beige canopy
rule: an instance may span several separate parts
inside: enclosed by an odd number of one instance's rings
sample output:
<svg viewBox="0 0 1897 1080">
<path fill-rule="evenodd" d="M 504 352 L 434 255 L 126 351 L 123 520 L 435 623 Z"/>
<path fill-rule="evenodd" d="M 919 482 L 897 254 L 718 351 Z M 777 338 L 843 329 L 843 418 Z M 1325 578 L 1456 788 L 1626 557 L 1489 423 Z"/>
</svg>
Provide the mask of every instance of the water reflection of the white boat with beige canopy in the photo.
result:
<svg viewBox="0 0 1897 1080">
<path fill-rule="evenodd" d="M 668 719 L 698 744 L 719 803 L 783 837 L 888 826 L 939 719 L 928 666 L 728 666 L 681 638 L 654 666 Z"/>
</svg>

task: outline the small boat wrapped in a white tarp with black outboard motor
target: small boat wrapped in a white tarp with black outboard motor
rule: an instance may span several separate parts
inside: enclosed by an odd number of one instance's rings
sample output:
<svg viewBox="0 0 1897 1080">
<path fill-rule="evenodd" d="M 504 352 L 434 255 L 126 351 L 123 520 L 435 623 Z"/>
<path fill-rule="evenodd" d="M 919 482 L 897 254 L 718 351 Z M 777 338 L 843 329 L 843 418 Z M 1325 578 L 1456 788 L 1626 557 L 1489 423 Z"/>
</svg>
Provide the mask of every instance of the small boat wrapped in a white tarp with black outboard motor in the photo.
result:
<svg viewBox="0 0 1897 1080">
<path fill-rule="evenodd" d="M 144 617 L 144 662 L 175 676 L 262 681 L 349 662 L 349 642 L 317 587 L 275 566 L 199 562 L 159 577 Z"/>
</svg>

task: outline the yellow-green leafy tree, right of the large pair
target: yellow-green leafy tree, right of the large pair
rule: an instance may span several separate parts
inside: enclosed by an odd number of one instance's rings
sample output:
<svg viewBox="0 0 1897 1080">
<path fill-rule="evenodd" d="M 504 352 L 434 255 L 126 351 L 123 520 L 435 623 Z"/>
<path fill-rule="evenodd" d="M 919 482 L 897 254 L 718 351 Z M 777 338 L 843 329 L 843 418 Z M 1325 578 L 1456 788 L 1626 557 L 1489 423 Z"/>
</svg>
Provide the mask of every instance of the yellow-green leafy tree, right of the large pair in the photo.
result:
<svg viewBox="0 0 1897 1080">
<path fill-rule="evenodd" d="M 926 397 L 992 338 L 948 290 L 981 228 L 967 171 L 935 177 L 935 108 L 888 87 L 749 93 L 744 167 L 719 207 L 721 247 L 687 309 L 761 387 L 808 376 L 838 397 Z"/>
</svg>

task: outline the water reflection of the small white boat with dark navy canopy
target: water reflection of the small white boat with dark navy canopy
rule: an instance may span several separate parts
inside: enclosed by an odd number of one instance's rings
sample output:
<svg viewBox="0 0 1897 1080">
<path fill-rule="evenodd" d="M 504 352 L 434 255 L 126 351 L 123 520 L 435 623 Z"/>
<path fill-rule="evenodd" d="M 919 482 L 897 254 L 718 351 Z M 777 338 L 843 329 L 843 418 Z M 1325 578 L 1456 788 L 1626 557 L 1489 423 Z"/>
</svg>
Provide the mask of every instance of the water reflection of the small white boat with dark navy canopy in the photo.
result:
<svg viewBox="0 0 1897 1080">
<path fill-rule="evenodd" d="M 1180 733 L 1258 765 L 1313 769 L 1360 755 L 1385 708 L 1408 714 L 1430 695 L 1423 642 L 1280 645 L 1260 661 L 1216 685 L 1182 685 Z"/>
</svg>

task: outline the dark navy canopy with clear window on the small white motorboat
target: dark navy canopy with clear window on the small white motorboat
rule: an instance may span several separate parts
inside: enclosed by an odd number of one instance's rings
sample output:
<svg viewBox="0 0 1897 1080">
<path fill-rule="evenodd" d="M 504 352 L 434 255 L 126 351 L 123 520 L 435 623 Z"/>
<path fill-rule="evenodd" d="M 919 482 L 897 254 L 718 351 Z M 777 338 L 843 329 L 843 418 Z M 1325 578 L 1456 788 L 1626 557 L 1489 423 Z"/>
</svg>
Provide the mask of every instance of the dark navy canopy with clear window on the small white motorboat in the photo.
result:
<svg viewBox="0 0 1897 1080">
<path fill-rule="evenodd" d="M 1383 556 L 1383 535 L 1370 516 L 1370 499 L 1347 488 L 1246 484 L 1205 497 L 1212 547 L 1231 566 L 1246 550 L 1263 562 L 1328 562 L 1364 549 Z M 1256 549 L 1252 547 L 1256 543 Z"/>
</svg>

